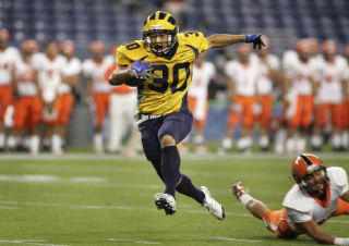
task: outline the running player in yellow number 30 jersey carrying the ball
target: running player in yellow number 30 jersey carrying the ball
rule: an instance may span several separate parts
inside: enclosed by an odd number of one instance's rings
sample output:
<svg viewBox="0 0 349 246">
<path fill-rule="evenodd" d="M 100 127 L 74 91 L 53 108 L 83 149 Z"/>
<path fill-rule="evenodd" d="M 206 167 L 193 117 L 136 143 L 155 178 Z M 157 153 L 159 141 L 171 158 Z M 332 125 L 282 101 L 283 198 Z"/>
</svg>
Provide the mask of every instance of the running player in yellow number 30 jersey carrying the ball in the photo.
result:
<svg viewBox="0 0 349 246">
<path fill-rule="evenodd" d="M 193 116 L 188 109 L 186 91 L 192 79 L 193 62 L 210 48 L 236 42 L 264 46 L 261 35 L 217 34 L 205 37 L 200 32 L 178 33 L 171 14 L 157 11 L 148 15 L 143 27 L 143 40 L 135 40 L 117 50 L 117 70 L 111 85 L 137 86 L 137 126 L 148 161 L 165 183 L 165 192 L 155 194 L 155 204 L 166 214 L 176 212 L 176 190 L 194 198 L 214 217 L 225 219 L 224 207 L 207 187 L 196 188 L 189 176 L 180 172 L 177 149 L 189 133 Z"/>
</svg>

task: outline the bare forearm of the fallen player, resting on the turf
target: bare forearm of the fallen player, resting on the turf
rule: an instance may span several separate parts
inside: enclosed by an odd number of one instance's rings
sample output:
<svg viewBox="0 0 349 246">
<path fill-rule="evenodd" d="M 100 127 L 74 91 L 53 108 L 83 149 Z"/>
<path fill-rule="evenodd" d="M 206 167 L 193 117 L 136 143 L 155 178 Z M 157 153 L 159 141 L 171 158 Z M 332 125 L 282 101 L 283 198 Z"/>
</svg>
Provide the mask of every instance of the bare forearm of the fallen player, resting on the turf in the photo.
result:
<svg viewBox="0 0 349 246">
<path fill-rule="evenodd" d="M 308 235 L 313 237 L 314 241 L 316 241 L 320 244 L 335 244 L 349 246 L 349 238 L 335 237 L 333 235 L 324 233 L 314 220 L 310 220 L 304 223 L 298 224 L 298 226 L 304 230 L 308 233 Z"/>
</svg>

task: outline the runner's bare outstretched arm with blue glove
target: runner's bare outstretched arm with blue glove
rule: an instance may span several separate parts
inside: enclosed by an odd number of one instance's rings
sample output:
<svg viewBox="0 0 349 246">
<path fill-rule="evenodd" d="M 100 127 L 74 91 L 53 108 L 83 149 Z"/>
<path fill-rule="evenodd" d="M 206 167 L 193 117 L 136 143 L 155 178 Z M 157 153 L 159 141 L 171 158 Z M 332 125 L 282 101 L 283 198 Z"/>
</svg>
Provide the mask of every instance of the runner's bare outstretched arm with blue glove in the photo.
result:
<svg viewBox="0 0 349 246">
<path fill-rule="evenodd" d="M 220 48 L 230 46 L 237 42 L 252 42 L 253 48 L 262 49 L 264 42 L 262 40 L 261 34 L 250 34 L 250 35 L 230 35 L 230 34 L 214 34 L 207 37 L 209 48 Z"/>
</svg>

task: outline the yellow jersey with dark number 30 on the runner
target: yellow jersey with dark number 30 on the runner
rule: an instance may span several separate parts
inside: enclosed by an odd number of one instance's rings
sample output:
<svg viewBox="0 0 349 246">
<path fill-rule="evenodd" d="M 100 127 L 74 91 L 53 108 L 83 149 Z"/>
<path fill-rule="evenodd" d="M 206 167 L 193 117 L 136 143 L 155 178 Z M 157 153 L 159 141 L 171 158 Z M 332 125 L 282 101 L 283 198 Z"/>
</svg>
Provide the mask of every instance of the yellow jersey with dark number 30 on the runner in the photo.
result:
<svg viewBox="0 0 349 246">
<path fill-rule="evenodd" d="M 153 75 L 139 86 L 139 111 L 166 115 L 188 109 L 186 91 L 192 81 L 193 62 L 208 49 L 208 41 L 200 32 L 185 32 L 177 36 L 177 44 L 166 56 L 156 56 L 135 40 L 120 46 L 117 64 L 130 65 L 136 60 L 152 62 Z"/>
</svg>

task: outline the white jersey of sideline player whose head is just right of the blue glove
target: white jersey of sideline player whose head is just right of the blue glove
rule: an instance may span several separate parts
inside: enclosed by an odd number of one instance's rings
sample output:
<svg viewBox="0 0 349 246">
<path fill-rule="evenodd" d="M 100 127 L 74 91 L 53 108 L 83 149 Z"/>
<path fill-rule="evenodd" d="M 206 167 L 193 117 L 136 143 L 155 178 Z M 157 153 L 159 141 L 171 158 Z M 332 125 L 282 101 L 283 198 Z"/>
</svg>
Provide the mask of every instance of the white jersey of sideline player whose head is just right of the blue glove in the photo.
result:
<svg viewBox="0 0 349 246">
<path fill-rule="evenodd" d="M 275 56 L 269 53 L 266 57 L 266 63 L 260 58 L 255 61 L 257 67 L 257 91 L 258 95 L 269 95 L 273 93 L 273 81 L 270 79 L 270 70 L 278 71 L 280 69 L 280 61 Z"/>
</svg>

